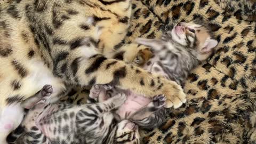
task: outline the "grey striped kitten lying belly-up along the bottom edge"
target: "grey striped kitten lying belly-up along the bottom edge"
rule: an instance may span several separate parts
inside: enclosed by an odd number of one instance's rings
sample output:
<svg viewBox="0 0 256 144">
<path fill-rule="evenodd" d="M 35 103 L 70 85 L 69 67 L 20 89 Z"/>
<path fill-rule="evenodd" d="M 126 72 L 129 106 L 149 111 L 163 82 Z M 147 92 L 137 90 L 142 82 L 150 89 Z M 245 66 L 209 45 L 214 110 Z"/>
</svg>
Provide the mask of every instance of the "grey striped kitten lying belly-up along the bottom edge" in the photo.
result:
<svg viewBox="0 0 256 144">
<path fill-rule="evenodd" d="M 47 96 L 50 95 L 51 85 L 44 87 L 48 87 Z M 34 99 L 27 99 L 25 102 L 38 103 L 38 100 L 44 98 L 43 93 L 45 89 L 33 97 Z M 103 98 L 99 96 L 99 99 Z M 138 126 L 128 120 L 117 122 L 111 113 L 125 100 L 125 94 L 117 94 L 106 101 L 92 105 L 49 104 L 42 100 L 28 111 L 20 129 L 10 134 L 7 141 L 16 144 L 139 144 Z"/>
</svg>

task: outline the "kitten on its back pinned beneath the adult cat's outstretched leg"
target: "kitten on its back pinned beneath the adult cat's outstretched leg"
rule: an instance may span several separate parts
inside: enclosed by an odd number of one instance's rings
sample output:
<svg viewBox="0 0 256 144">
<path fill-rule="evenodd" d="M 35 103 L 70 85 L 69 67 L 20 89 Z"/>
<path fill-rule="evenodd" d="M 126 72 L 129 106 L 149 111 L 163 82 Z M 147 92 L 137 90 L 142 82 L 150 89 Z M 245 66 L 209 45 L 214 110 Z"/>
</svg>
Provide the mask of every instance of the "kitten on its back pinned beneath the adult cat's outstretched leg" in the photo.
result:
<svg viewBox="0 0 256 144">
<path fill-rule="evenodd" d="M 160 39 L 138 38 L 139 44 L 151 47 L 155 54 L 143 68 L 183 85 L 188 73 L 198 66 L 200 61 L 209 58 L 218 44 L 212 39 L 207 25 L 202 23 L 204 22 L 179 22 Z M 141 83 L 143 84 L 143 81 Z M 153 81 L 151 85 L 155 83 L 157 82 Z M 131 119 L 144 129 L 154 128 L 165 121 L 167 109 L 164 108 L 164 95 L 148 99 L 111 85 L 95 85 L 89 96 L 96 100 L 97 95 L 105 95 L 105 99 L 108 99 L 117 93 L 127 95 L 125 103 L 116 111 L 118 119 Z"/>
</svg>

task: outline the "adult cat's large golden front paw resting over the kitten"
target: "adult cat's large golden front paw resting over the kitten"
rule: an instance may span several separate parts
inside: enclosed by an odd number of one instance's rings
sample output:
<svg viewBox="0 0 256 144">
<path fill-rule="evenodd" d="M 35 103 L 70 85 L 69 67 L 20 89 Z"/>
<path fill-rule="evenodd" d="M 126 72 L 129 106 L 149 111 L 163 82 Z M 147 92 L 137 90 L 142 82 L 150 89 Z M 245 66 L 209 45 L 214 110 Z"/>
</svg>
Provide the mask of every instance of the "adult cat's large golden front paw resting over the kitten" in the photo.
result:
<svg viewBox="0 0 256 144">
<path fill-rule="evenodd" d="M 186 100 L 186 94 L 183 92 L 183 89 L 180 85 L 174 81 L 168 81 L 166 79 L 163 83 L 163 93 L 166 96 L 166 108 L 179 108 Z"/>
</svg>

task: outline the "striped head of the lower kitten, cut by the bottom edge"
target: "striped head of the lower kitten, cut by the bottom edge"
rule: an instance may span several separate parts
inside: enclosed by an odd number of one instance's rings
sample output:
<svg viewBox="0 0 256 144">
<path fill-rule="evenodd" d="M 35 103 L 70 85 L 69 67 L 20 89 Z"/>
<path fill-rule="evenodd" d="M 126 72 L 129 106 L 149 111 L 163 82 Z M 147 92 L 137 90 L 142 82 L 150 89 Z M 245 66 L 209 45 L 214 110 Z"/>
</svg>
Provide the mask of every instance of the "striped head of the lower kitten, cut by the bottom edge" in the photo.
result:
<svg viewBox="0 0 256 144">
<path fill-rule="evenodd" d="M 140 134 L 138 125 L 134 123 L 124 120 L 117 124 L 117 129 L 115 133 L 115 144 L 117 143 L 136 143 L 139 144 Z"/>
</svg>

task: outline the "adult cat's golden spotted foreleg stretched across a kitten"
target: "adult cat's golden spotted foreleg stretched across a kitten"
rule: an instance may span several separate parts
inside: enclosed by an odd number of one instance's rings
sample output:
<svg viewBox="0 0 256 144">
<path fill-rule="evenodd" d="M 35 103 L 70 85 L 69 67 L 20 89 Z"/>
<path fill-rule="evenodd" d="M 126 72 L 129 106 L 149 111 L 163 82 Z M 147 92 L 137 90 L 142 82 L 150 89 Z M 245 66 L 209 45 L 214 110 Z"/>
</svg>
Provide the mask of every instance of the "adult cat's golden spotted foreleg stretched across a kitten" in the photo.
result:
<svg viewBox="0 0 256 144">
<path fill-rule="evenodd" d="M 55 75 L 80 85 L 117 85 L 147 97 L 165 94 L 166 107 L 177 108 L 186 102 L 186 95 L 181 86 L 173 81 L 127 65 L 123 61 L 107 59 L 101 54 L 93 55 L 92 53 L 90 57 L 84 56 L 79 49 L 78 47 L 74 51 L 69 51 L 67 57 L 63 57 L 61 62 L 56 63 Z M 84 48 L 83 51 L 85 51 Z M 90 53 L 90 49 L 87 53 Z M 66 69 L 62 69 L 63 64 L 67 67 Z"/>
</svg>

